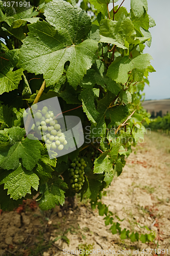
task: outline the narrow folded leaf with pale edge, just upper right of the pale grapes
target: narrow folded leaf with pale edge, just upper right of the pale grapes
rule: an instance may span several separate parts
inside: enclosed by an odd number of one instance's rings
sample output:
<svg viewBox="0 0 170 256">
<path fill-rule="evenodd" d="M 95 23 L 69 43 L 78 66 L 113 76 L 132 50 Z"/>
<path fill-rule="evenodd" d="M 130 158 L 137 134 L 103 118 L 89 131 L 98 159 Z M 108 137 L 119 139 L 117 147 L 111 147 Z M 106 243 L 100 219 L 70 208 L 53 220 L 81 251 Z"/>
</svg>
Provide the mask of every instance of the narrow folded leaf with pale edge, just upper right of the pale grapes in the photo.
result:
<svg viewBox="0 0 170 256">
<path fill-rule="evenodd" d="M 89 121 L 96 124 L 95 120 L 99 113 L 95 109 L 94 94 L 90 89 L 85 89 L 80 94 L 83 103 L 83 111 L 86 113 Z"/>
</svg>

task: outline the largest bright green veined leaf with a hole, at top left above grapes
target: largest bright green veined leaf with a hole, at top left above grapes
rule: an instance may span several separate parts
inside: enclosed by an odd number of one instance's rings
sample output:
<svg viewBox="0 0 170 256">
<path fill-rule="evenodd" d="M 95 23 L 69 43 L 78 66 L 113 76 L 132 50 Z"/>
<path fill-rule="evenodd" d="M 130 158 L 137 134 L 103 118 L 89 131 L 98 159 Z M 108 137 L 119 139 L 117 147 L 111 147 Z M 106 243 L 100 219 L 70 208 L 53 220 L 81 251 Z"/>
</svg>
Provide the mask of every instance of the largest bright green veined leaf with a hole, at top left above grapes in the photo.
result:
<svg viewBox="0 0 170 256">
<path fill-rule="evenodd" d="M 96 40 L 82 41 L 90 31 L 90 18 L 65 1 L 50 2 L 44 10 L 46 20 L 57 30 L 44 21 L 28 25 L 30 32 L 20 49 L 18 67 L 43 74 L 46 86 L 51 86 L 59 81 L 65 62 L 69 61 L 66 77 L 76 89 L 98 49 Z"/>
</svg>

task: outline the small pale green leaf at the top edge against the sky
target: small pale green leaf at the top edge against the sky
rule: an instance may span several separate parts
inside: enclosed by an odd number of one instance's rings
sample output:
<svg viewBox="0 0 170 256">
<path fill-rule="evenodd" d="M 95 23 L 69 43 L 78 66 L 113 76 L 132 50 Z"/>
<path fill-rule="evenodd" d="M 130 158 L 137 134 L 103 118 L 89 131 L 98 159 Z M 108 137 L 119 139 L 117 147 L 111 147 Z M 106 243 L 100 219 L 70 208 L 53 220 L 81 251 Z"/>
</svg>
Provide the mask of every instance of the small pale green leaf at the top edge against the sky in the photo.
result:
<svg viewBox="0 0 170 256">
<path fill-rule="evenodd" d="M 141 17 L 144 10 L 148 11 L 147 0 L 131 0 L 131 8 L 136 17 Z"/>
</svg>

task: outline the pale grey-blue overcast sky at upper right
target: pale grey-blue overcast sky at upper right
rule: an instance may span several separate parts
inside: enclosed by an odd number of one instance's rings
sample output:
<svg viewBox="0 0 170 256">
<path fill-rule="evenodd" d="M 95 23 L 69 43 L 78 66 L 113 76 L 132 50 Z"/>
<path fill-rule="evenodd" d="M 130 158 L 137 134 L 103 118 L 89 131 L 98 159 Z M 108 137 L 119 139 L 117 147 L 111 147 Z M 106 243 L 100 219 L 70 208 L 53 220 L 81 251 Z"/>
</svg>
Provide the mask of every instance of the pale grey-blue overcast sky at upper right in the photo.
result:
<svg viewBox="0 0 170 256">
<path fill-rule="evenodd" d="M 122 0 L 119 0 L 115 5 L 120 3 Z M 125 0 L 123 6 L 130 12 L 130 0 Z M 151 60 L 151 65 L 156 72 L 149 74 L 150 87 L 145 86 L 145 99 L 170 98 L 169 10 L 169 0 L 148 0 L 148 14 L 155 19 L 156 26 L 149 29 L 152 34 L 152 44 L 150 48 L 145 47 L 144 53 L 149 53 L 153 57 L 154 60 Z"/>
</svg>

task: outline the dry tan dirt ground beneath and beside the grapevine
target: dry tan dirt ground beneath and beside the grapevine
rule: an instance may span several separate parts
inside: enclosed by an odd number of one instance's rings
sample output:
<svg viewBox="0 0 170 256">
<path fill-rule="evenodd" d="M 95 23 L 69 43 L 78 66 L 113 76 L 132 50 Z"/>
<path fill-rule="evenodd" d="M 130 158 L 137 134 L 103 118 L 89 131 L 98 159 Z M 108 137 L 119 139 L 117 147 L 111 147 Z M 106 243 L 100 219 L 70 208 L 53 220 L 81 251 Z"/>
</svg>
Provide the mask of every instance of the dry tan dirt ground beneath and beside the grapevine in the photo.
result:
<svg viewBox="0 0 170 256">
<path fill-rule="evenodd" d="M 87 201 L 75 210 L 65 206 L 45 212 L 28 201 L 24 207 L 17 209 L 18 212 L 2 212 L 0 255 L 70 255 L 71 250 L 75 253 L 78 248 L 94 249 L 91 255 L 95 255 L 98 249 L 98 255 L 105 256 L 110 254 L 109 250 L 114 250 L 115 254 L 120 250 L 119 255 L 147 254 L 142 253 L 143 249 L 149 249 L 151 255 L 151 249 L 158 248 L 165 249 L 165 253 L 156 255 L 167 255 L 167 249 L 170 255 L 169 153 L 168 137 L 156 133 L 147 135 L 144 143 L 139 144 L 128 158 L 122 175 L 114 178 L 106 189 L 107 196 L 103 197 L 103 203 L 110 205 L 109 210 L 114 216 L 125 218 L 121 222 L 122 228 L 146 233 L 148 231 L 139 225 L 150 227 L 154 223 L 155 243 L 120 240 L 118 234 L 111 233 L 110 226 L 105 226 L 98 211 L 91 210 Z M 114 221 L 117 222 L 115 217 Z M 69 245 L 66 243 L 68 239 Z M 63 254 L 63 248 L 70 250 L 70 254 Z M 99 251 L 102 249 L 103 253 Z M 153 250 L 152 255 L 154 253 Z M 79 255 L 78 251 L 75 254 Z"/>
</svg>

